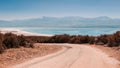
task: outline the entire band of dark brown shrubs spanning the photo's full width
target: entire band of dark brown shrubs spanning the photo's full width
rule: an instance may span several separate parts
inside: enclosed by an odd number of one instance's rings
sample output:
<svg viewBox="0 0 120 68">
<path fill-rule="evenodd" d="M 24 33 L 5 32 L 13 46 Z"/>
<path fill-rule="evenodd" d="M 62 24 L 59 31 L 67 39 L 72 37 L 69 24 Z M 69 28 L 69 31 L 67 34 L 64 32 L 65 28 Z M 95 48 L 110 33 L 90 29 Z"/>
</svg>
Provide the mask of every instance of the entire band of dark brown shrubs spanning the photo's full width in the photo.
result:
<svg viewBox="0 0 120 68">
<path fill-rule="evenodd" d="M 109 35 L 88 36 L 88 35 L 55 35 L 52 37 L 44 36 L 17 36 L 12 33 L 0 33 L 0 53 L 5 49 L 23 47 L 33 47 L 33 43 L 76 43 L 76 44 L 99 44 L 108 47 L 120 46 L 120 31 Z"/>
</svg>

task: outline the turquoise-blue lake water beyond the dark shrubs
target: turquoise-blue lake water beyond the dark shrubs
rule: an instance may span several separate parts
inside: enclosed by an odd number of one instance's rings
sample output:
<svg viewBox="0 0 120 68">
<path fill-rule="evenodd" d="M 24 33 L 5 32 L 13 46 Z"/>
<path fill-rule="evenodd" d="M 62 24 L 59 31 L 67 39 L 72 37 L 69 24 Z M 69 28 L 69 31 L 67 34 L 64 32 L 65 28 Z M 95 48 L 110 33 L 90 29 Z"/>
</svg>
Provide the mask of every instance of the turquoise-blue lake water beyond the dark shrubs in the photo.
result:
<svg viewBox="0 0 120 68">
<path fill-rule="evenodd" d="M 116 31 L 120 31 L 119 28 L 26 28 L 23 29 L 32 33 L 39 34 L 70 34 L 70 35 L 90 35 L 98 36 L 101 34 L 112 34 Z"/>
</svg>

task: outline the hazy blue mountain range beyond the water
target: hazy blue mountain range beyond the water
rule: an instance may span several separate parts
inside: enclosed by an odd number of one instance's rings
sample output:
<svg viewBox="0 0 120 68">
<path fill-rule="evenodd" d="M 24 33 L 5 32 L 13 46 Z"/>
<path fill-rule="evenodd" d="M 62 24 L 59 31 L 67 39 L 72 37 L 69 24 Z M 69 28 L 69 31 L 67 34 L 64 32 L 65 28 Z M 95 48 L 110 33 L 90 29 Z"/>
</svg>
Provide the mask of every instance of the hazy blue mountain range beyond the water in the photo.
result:
<svg viewBox="0 0 120 68">
<path fill-rule="evenodd" d="M 96 18 L 83 17 L 43 17 L 26 20 L 0 20 L 0 27 L 72 27 L 72 28 L 120 28 L 120 19 L 106 16 Z"/>
</svg>

